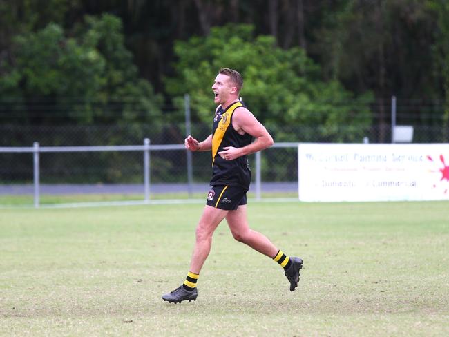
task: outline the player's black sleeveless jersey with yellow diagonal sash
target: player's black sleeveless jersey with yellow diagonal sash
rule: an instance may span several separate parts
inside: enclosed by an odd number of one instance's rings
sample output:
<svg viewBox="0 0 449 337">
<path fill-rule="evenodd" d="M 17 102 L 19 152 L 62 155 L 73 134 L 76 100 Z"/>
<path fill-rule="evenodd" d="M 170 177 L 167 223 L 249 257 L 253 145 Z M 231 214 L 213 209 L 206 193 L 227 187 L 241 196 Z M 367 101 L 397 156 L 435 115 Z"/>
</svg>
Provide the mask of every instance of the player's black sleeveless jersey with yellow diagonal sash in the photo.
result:
<svg viewBox="0 0 449 337">
<path fill-rule="evenodd" d="M 235 160 L 225 160 L 218 152 L 223 148 L 233 146 L 241 148 L 251 144 L 251 135 L 240 135 L 232 126 L 234 111 L 243 106 L 241 102 L 231 104 L 226 110 L 221 106 L 216 111 L 212 124 L 212 179 L 211 186 L 229 185 L 249 189 L 251 171 L 249 171 L 248 157 L 244 155 Z"/>
</svg>

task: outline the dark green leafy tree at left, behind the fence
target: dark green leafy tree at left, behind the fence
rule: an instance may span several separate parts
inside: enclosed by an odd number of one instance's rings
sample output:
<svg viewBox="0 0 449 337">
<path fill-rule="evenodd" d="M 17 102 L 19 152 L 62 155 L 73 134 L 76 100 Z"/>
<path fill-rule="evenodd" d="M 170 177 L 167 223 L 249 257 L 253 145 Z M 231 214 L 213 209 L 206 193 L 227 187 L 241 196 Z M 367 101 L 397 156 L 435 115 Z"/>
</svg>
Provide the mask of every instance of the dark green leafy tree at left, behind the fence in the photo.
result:
<svg viewBox="0 0 449 337">
<path fill-rule="evenodd" d="M 122 22 L 113 15 L 86 16 L 69 33 L 50 23 L 18 35 L 10 61 L 0 69 L 0 97 L 13 97 L 28 110 L 44 102 L 50 111 L 85 124 L 156 122 L 162 116 L 162 97 L 137 76 Z"/>
</svg>

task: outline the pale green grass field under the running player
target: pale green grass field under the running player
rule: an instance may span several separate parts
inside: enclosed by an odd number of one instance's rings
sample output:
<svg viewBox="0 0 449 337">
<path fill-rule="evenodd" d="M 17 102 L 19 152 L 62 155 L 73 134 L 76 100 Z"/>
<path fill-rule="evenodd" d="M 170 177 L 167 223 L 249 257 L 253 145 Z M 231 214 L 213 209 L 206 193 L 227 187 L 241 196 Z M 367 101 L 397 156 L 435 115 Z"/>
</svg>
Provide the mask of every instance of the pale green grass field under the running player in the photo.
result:
<svg viewBox="0 0 449 337">
<path fill-rule="evenodd" d="M 202 204 L 0 210 L 2 336 L 449 336 L 449 203 L 251 202 L 251 227 L 305 260 L 282 269 L 214 235 L 184 280 Z"/>
</svg>

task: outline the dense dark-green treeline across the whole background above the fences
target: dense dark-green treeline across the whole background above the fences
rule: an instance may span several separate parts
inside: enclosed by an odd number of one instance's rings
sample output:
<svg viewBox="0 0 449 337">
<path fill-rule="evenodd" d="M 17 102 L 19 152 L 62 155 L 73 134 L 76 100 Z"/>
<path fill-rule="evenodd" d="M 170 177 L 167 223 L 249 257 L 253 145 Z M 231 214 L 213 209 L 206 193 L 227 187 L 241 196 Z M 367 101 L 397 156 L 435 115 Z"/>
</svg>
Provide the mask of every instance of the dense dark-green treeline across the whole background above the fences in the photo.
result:
<svg viewBox="0 0 449 337">
<path fill-rule="evenodd" d="M 222 66 L 266 122 L 383 130 L 392 95 L 413 124 L 449 122 L 434 105 L 449 95 L 444 0 L 17 0 L 0 15 L 1 123 L 179 121 L 184 93 L 200 121 Z"/>
</svg>

